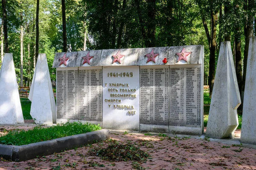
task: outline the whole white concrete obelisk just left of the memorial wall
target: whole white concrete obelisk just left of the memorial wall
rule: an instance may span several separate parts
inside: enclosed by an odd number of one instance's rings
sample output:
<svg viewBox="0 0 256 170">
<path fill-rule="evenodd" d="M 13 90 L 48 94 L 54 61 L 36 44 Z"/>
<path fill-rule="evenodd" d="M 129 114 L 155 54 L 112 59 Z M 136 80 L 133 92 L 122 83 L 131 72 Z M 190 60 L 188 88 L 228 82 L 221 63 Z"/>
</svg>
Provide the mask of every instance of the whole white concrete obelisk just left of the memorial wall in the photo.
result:
<svg viewBox="0 0 256 170">
<path fill-rule="evenodd" d="M 29 100 L 32 101 L 30 115 L 36 124 L 56 123 L 56 104 L 45 54 L 38 55 Z"/>
</svg>

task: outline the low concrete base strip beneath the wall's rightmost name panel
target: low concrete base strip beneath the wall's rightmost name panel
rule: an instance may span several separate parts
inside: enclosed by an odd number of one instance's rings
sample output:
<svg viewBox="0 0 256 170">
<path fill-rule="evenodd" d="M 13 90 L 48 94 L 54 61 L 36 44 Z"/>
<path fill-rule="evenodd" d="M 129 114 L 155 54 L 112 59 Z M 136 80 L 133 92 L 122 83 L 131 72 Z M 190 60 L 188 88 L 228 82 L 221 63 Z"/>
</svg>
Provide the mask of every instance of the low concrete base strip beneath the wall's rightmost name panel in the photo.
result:
<svg viewBox="0 0 256 170">
<path fill-rule="evenodd" d="M 202 135 L 204 134 L 204 127 L 169 126 L 169 133 L 183 135 Z"/>
</svg>

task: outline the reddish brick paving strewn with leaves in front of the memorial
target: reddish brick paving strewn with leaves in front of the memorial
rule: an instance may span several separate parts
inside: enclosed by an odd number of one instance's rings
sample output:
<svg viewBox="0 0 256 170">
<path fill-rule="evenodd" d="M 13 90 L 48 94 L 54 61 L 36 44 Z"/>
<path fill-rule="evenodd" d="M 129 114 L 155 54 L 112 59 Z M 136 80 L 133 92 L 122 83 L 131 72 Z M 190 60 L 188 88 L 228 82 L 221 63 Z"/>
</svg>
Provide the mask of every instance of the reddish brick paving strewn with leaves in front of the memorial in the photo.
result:
<svg viewBox="0 0 256 170">
<path fill-rule="evenodd" d="M 139 164 L 134 161 L 104 161 L 97 156 L 88 155 L 88 150 L 107 147 L 111 143 L 104 141 L 29 161 L 9 162 L 0 159 L 0 170 L 50 170 L 58 167 L 62 170 L 256 170 L 256 150 L 250 148 L 192 137 L 169 138 L 144 133 L 112 132 L 111 139 L 120 144 L 136 144 L 141 150 L 148 152 L 150 157 L 145 163 Z"/>
</svg>

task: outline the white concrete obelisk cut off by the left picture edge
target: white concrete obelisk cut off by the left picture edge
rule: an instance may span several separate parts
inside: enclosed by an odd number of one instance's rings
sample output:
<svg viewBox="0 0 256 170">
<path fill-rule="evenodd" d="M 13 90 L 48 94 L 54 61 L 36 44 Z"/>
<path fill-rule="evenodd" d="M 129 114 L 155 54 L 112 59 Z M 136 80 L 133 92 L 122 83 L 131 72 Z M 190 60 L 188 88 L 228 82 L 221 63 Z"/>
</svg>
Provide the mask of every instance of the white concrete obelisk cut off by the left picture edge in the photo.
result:
<svg viewBox="0 0 256 170">
<path fill-rule="evenodd" d="M 0 70 L 0 124 L 24 123 L 11 53 L 5 53 Z"/>
</svg>

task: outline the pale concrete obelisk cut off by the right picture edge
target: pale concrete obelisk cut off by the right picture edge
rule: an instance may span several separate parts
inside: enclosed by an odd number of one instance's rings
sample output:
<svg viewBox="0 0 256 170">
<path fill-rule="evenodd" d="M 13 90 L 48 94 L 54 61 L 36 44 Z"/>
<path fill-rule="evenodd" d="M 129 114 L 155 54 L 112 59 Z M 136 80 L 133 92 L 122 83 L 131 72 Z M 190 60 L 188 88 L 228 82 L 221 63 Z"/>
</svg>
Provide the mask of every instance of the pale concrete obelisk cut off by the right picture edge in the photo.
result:
<svg viewBox="0 0 256 170">
<path fill-rule="evenodd" d="M 251 37 L 249 43 L 241 142 L 256 144 L 256 37 Z"/>
</svg>

